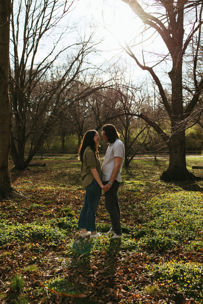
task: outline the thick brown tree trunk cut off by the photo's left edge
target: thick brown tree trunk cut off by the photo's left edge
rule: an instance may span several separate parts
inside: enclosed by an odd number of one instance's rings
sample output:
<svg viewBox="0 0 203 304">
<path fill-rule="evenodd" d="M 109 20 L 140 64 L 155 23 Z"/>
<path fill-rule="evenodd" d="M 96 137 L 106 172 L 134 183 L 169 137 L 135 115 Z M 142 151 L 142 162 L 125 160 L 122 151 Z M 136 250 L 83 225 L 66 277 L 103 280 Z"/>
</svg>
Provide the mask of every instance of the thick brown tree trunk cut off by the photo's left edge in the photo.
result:
<svg viewBox="0 0 203 304">
<path fill-rule="evenodd" d="M 12 190 L 9 169 L 11 109 L 9 103 L 9 32 L 11 1 L 0 2 L 0 197 Z"/>
</svg>

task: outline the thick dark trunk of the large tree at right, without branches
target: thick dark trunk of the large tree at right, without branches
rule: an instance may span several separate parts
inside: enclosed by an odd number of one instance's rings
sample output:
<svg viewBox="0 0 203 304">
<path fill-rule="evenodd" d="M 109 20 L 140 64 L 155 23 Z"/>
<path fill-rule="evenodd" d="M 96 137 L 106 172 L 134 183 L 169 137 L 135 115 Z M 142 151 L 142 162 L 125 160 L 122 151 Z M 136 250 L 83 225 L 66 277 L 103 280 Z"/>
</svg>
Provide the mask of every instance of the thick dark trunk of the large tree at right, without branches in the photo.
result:
<svg viewBox="0 0 203 304">
<path fill-rule="evenodd" d="M 173 58 L 172 70 L 168 73 L 171 79 L 171 136 L 168 143 L 170 156 L 169 168 L 161 175 L 164 181 L 190 181 L 194 175 L 187 170 L 185 159 L 185 125 L 183 123 L 183 88 L 182 88 L 182 33 L 180 49 L 177 48 Z"/>
</svg>

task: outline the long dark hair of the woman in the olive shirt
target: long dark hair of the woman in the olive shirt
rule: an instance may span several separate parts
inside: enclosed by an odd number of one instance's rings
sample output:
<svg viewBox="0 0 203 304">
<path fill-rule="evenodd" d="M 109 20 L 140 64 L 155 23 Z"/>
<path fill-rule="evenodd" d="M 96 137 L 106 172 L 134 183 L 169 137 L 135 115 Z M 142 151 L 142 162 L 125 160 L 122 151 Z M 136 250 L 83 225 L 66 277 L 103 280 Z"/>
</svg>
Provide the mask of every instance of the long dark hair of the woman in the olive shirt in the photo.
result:
<svg viewBox="0 0 203 304">
<path fill-rule="evenodd" d="M 78 159 L 79 161 L 83 161 L 83 154 L 85 152 L 86 147 L 90 147 L 93 152 L 95 153 L 95 156 L 99 158 L 99 152 L 97 150 L 97 145 L 94 141 L 94 136 L 96 135 L 95 130 L 89 130 L 85 133 L 85 135 L 82 138 L 82 143 L 79 147 L 78 151 Z"/>
</svg>

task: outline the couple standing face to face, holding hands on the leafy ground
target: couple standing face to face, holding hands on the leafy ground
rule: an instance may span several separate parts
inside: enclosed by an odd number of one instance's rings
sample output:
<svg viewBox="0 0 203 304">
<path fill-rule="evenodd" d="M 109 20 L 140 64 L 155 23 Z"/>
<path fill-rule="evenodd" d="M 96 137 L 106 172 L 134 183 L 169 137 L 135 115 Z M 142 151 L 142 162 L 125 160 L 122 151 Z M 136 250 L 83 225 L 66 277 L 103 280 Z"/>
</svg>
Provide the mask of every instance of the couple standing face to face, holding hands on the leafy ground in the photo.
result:
<svg viewBox="0 0 203 304">
<path fill-rule="evenodd" d="M 80 212 L 78 228 L 80 237 L 100 237 L 96 231 L 95 212 L 103 189 L 105 207 L 109 212 L 112 228 L 105 234 L 112 234 L 112 238 L 121 238 L 121 213 L 118 203 L 118 187 L 121 182 L 121 168 L 124 160 L 124 144 L 119 140 L 119 134 L 113 125 L 102 127 L 103 140 L 109 143 L 101 167 L 98 145 L 100 136 L 97 131 L 89 130 L 85 133 L 79 148 L 82 183 L 86 194 Z"/>
</svg>

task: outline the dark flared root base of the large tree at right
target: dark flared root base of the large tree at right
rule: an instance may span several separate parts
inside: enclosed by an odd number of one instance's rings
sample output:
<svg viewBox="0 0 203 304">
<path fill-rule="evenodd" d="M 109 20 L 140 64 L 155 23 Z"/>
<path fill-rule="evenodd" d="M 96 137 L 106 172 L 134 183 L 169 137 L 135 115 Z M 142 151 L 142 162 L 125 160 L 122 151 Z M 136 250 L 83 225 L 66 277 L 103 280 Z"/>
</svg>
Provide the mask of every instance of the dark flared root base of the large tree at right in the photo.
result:
<svg viewBox="0 0 203 304">
<path fill-rule="evenodd" d="M 166 170 L 160 176 L 162 181 L 195 181 L 203 180 L 202 177 L 195 176 L 193 173 L 188 170 Z"/>
</svg>

